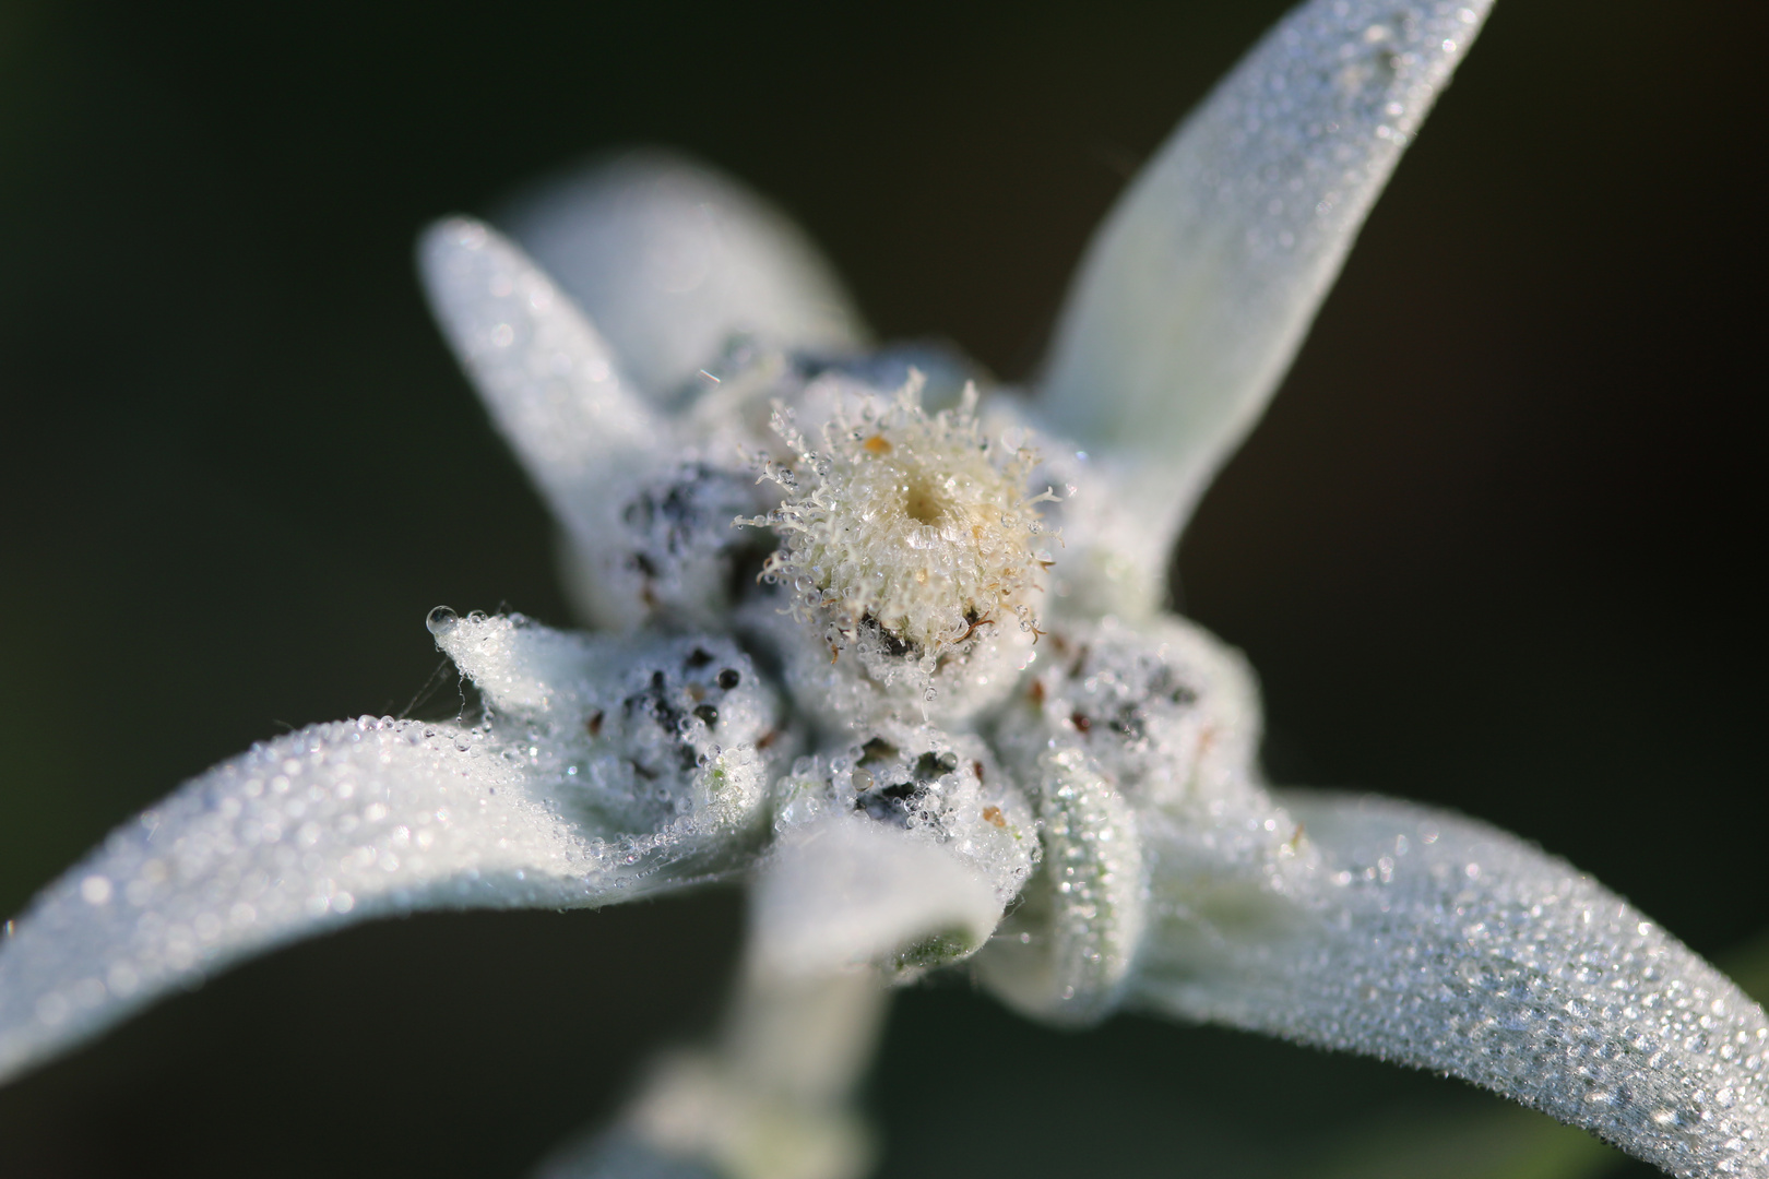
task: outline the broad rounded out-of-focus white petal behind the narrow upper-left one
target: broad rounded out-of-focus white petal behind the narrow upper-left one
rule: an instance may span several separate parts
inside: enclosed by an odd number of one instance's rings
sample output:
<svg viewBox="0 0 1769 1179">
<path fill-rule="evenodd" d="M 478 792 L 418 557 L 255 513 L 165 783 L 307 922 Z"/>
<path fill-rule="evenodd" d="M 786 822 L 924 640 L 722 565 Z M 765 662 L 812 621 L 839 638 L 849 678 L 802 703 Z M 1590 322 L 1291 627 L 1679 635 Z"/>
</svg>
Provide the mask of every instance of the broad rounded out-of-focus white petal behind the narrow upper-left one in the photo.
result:
<svg viewBox="0 0 1769 1179">
<path fill-rule="evenodd" d="M 837 354 L 867 341 L 835 272 L 785 216 L 669 152 L 598 161 L 502 221 L 655 398 L 711 366 L 734 336 Z"/>
</svg>

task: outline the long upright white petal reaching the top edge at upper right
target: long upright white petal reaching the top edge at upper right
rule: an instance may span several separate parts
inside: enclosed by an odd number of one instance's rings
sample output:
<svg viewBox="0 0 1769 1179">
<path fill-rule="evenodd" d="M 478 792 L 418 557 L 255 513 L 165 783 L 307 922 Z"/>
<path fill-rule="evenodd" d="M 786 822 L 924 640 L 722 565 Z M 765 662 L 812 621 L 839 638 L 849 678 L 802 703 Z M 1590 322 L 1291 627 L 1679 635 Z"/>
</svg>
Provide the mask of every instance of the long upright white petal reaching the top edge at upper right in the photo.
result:
<svg viewBox="0 0 1769 1179">
<path fill-rule="evenodd" d="M 1258 419 L 1489 0 L 1311 0 L 1160 148 L 1068 295 L 1044 412 L 1176 530 Z M 1171 536 L 1171 530 L 1168 532 Z"/>
</svg>

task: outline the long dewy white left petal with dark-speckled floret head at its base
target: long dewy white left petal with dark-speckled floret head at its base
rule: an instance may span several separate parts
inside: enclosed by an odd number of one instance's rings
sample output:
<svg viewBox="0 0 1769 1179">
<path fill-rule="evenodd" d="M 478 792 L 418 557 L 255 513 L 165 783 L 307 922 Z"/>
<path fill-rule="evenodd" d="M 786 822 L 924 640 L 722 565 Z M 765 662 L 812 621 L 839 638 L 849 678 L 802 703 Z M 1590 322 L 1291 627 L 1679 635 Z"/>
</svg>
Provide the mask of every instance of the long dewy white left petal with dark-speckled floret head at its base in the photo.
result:
<svg viewBox="0 0 1769 1179">
<path fill-rule="evenodd" d="M 430 629 L 488 718 L 315 725 L 119 827 L 0 942 L 0 1078 L 364 917 L 605 905 L 754 861 L 778 716 L 731 640 Z"/>
</svg>

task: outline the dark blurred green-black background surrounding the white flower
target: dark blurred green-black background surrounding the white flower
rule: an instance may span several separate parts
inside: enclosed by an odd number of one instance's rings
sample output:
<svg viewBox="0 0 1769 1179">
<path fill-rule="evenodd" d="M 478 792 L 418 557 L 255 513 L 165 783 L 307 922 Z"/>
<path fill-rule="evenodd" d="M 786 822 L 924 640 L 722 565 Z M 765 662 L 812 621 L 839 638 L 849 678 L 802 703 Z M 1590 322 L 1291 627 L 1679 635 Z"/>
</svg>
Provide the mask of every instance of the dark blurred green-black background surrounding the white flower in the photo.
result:
<svg viewBox="0 0 1769 1179">
<path fill-rule="evenodd" d="M 421 306 L 428 219 L 672 143 L 883 336 L 1017 378 L 1284 7 L 0 0 L 0 910 L 255 739 L 405 709 L 430 606 L 570 620 Z M 1723 963 L 1769 928 L 1765 12 L 1502 0 L 1176 562 L 1277 781 L 1493 820 Z M 708 893 L 280 953 L 0 1091 L 0 1174 L 520 1175 L 716 1013 L 739 924 Z M 1615 1161 L 1454 1082 L 1056 1034 L 962 979 L 899 1000 L 869 1107 L 886 1175 Z"/>
</svg>

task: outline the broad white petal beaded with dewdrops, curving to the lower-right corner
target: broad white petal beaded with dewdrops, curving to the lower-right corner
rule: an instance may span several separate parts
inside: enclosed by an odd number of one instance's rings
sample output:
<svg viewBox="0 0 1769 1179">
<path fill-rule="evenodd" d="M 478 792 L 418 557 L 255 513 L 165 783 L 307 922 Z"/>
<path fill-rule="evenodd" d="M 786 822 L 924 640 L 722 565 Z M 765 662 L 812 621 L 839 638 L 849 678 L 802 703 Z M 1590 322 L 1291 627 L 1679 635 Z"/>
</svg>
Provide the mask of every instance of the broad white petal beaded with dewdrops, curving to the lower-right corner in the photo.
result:
<svg viewBox="0 0 1769 1179">
<path fill-rule="evenodd" d="M 1730 979 L 1502 831 L 1279 799 L 1318 852 L 1291 898 L 1206 926 L 1157 875 L 1132 1002 L 1454 1073 L 1675 1175 L 1769 1175 L 1769 1018 Z"/>
</svg>

